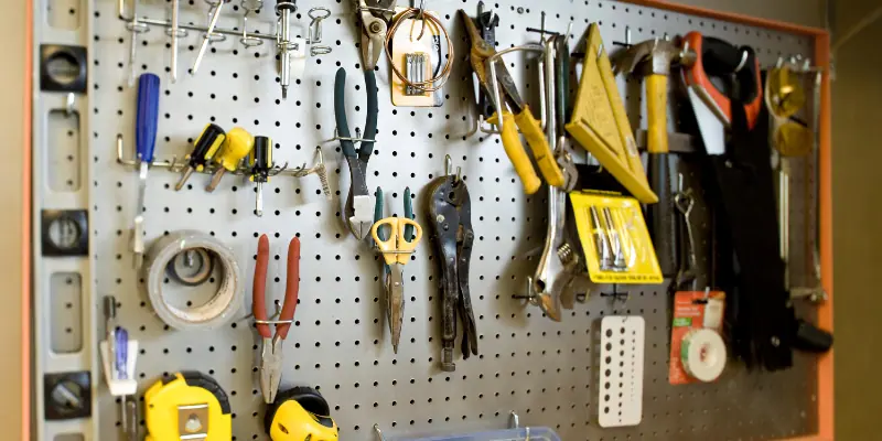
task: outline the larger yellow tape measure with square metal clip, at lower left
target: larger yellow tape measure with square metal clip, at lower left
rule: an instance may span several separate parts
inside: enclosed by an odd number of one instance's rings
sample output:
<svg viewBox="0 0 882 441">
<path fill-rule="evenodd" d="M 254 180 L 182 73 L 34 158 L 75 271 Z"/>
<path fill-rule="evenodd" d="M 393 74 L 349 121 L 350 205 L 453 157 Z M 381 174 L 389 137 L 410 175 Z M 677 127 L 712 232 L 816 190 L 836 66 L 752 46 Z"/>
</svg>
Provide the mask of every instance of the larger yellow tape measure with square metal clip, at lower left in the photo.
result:
<svg viewBox="0 0 882 441">
<path fill-rule="evenodd" d="M 180 372 L 157 381 L 144 394 L 144 441 L 233 438 L 227 394 L 214 378 L 200 372 Z"/>
</svg>

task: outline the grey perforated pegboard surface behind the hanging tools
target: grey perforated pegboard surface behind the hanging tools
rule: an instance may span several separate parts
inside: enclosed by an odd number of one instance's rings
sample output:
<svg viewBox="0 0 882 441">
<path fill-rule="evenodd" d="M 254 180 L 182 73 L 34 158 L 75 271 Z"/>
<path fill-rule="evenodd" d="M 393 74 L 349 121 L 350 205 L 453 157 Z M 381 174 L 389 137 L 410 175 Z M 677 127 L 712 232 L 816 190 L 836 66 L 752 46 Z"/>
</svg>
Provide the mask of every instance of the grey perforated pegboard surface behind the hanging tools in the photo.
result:
<svg viewBox="0 0 882 441">
<path fill-rule="evenodd" d="M 268 439 L 262 428 L 263 401 L 256 368 L 259 338 L 247 318 L 250 292 L 240 319 L 234 323 L 215 331 L 174 331 L 155 318 L 143 293 L 142 276 L 132 269 L 129 234 L 137 172 L 116 162 L 116 137 L 122 135 L 125 154 L 130 155 L 137 90 L 127 85 L 129 33 L 117 18 L 116 1 L 68 1 L 65 6 L 69 8 L 55 10 L 45 7 L 49 2 L 35 3 L 35 41 L 78 42 L 88 46 L 89 56 L 88 92 L 76 103 L 79 129 L 72 129 L 74 133 L 67 136 L 79 142 L 80 150 L 64 143 L 67 141 L 54 146 L 51 139 L 62 142 L 65 137 L 43 135 L 47 130 L 44 123 L 34 125 L 36 209 L 85 207 L 90 219 L 88 258 L 36 258 L 35 314 L 53 316 L 50 311 L 68 303 L 51 301 L 50 275 L 79 273 L 83 326 L 79 333 L 72 332 L 73 342 L 57 343 L 65 333 L 56 336 L 57 331 L 50 323 L 37 321 L 35 366 L 40 375 L 92 370 L 97 397 L 92 418 L 73 422 L 44 421 L 42 405 L 37 405 L 37 439 L 60 440 L 67 433 L 83 433 L 85 440 L 121 439 L 118 405 L 104 385 L 95 351 L 104 335 L 100 299 L 108 294 L 120 303 L 120 323 L 141 344 L 137 368 L 141 392 L 174 372 L 202 370 L 212 375 L 229 396 L 234 440 Z M 165 19 L 170 15 L 169 6 L 165 0 L 144 0 L 139 14 Z M 268 2 L 267 8 L 249 18 L 249 30 L 272 32 L 275 17 L 270 6 Z M 272 138 L 277 163 L 310 163 L 315 148 L 322 148 L 333 201 L 323 197 L 316 176 L 277 176 L 265 185 L 265 214 L 256 217 L 254 184 L 239 176 L 226 176 L 215 193 L 207 194 L 203 191 L 207 176 L 196 174 L 181 192 L 175 192 L 179 175 L 153 170 L 146 203 L 146 239 L 149 247 L 170 232 L 209 233 L 234 249 L 244 268 L 241 282 L 250 287 L 257 237 L 266 233 L 273 256 L 267 291 L 272 299 L 280 299 L 286 278 L 280 257 L 286 255 L 288 239 L 300 237 L 300 301 L 284 344 L 282 388 L 318 388 L 333 408 L 342 439 L 373 440 L 374 423 L 392 438 L 496 429 L 506 424 L 509 410 L 520 415 L 521 424 L 551 427 L 564 440 L 777 439 L 816 430 L 811 357 L 797 354 L 794 368 L 782 373 L 749 373 L 730 365 L 714 384 L 668 385 L 670 331 L 665 286 L 632 287 L 626 302 L 602 298 L 594 291 L 585 304 L 577 303 L 576 310 L 564 311 L 561 323 L 512 299 L 526 291 L 527 276 L 533 275 L 545 240 L 545 192 L 536 196 L 521 193 L 497 136 L 467 136 L 475 122 L 471 68 L 465 62 L 467 45 L 455 12 L 465 8 L 474 15 L 474 1 L 427 1 L 427 8 L 438 11 L 448 24 L 455 44 L 455 65 L 444 87 L 443 107 L 392 107 L 390 69 L 381 60 L 377 73 L 377 143 L 367 181 L 372 190 L 383 187 L 387 212 L 398 214 L 404 190 L 409 186 L 416 195 L 417 220 L 423 222 L 423 187 L 443 173 L 444 155 L 450 154 L 453 165 L 462 168 L 472 197 L 476 235 L 470 282 L 481 355 L 458 359 L 454 373 L 439 369 L 439 276 L 428 240 L 420 244 L 416 260 L 405 268 L 408 303 L 401 345 L 394 354 L 385 320 L 380 262 L 375 251 L 366 243 L 357 243 L 344 225 L 341 213 L 348 173 L 338 142 L 324 142 L 334 133 L 332 98 L 337 67 L 347 72 L 349 123 L 364 123 L 362 60 L 354 44 L 359 30 L 348 1 L 300 0 L 298 6 L 293 25 L 300 36 L 305 36 L 309 22 L 305 11 L 315 6 L 331 9 L 331 17 L 323 22 L 323 43 L 333 52 L 308 60 L 305 74 L 292 80 L 287 100 L 280 96 L 276 50 L 269 42 L 255 49 L 244 49 L 234 37 L 215 43 L 198 73 L 191 76 L 186 69 L 201 42 L 201 36 L 192 32 L 181 40 L 179 80 L 171 84 L 170 39 L 162 29 L 154 28 L 139 36 L 136 67 L 138 73 L 157 73 L 162 79 L 159 159 L 182 158 L 207 122 L 227 130 L 241 126 L 254 135 Z M 538 35 L 527 33 L 526 28 L 539 28 L 544 11 L 546 29 L 564 31 L 572 22 L 574 41 L 590 21 L 599 22 L 610 51 L 615 50 L 613 42 L 625 40 L 626 29 L 634 42 L 697 29 L 754 46 L 763 66 L 774 64 L 781 55 L 811 53 L 808 39 L 612 1 L 488 1 L 487 7 L 501 17 L 501 47 L 537 41 Z M 207 21 L 203 1 L 182 1 L 181 8 L 182 22 Z M 56 14 L 62 17 L 46 20 Z M 239 28 L 240 17 L 241 10 L 234 1 L 218 25 Z M 80 24 L 78 31 L 71 30 L 72 20 Z M 49 23 L 64 25 L 55 29 Z M 523 61 L 519 55 L 506 57 L 523 94 L 528 100 L 537 100 L 536 68 Z M 645 128 L 643 93 L 635 82 L 621 77 L 620 86 L 635 128 Z M 35 120 L 60 117 L 51 114 L 64 109 L 60 95 L 35 96 Z M 673 130 L 676 121 L 670 121 Z M 60 161 L 53 149 L 69 153 Z M 806 215 L 814 189 L 810 161 L 793 162 L 792 261 L 800 262 L 792 263 L 795 283 L 808 277 L 810 269 L 813 245 L 805 239 L 814 237 L 810 232 L 815 216 Z M 79 180 L 82 185 L 69 183 Z M 693 215 L 701 219 L 701 213 Z M 63 292 L 69 295 L 68 290 Z M 197 302 L 205 292 L 187 295 Z M 79 306 L 72 306 L 76 308 Z M 596 370 L 599 352 L 592 346 L 592 334 L 596 333 L 599 319 L 611 314 L 642 315 L 646 326 L 643 419 L 630 428 L 602 429 L 596 423 L 598 384 L 596 372 L 592 370 Z M 51 349 L 50 336 L 52 345 L 57 343 L 61 347 L 76 347 L 75 340 L 80 338 L 82 348 L 61 357 Z M 42 390 L 36 396 L 42 397 Z"/>
</svg>

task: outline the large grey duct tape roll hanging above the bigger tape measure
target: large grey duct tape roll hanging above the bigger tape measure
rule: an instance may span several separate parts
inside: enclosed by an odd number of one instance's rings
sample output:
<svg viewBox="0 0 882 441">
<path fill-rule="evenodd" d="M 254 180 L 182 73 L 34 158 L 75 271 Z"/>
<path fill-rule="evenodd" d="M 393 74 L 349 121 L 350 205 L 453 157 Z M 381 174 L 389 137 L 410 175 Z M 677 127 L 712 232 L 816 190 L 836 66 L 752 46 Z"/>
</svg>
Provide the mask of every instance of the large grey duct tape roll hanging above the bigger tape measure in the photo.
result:
<svg viewBox="0 0 882 441">
<path fill-rule="evenodd" d="M 202 305 L 178 308 L 163 293 L 165 270 L 179 254 L 203 248 L 218 262 L 222 276 L 219 288 Z M 182 230 L 158 239 L 147 252 L 144 266 L 147 295 L 153 310 L 169 326 L 178 330 L 213 329 L 223 326 L 237 315 L 244 304 L 245 287 L 239 275 L 236 256 L 226 245 L 202 232 Z"/>
</svg>

